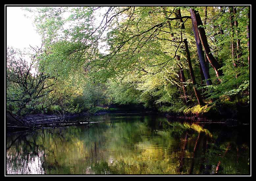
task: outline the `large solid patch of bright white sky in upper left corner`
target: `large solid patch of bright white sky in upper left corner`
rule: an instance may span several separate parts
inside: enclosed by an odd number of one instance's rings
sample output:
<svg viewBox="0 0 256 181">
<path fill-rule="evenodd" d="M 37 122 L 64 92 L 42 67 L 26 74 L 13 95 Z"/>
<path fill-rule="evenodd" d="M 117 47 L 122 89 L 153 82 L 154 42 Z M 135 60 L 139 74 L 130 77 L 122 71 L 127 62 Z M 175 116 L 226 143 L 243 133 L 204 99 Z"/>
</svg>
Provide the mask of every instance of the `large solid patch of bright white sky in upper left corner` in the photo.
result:
<svg viewBox="0 0 256 181">
<path fill-rule="evenodd" d="M 24 16 L 26 11 L 21 7 L 7 7 L 7 46 L 13 48 L 29 48 L 41 45 L 41 38 L 33 26 L 33 19 Z"/>
</svg>

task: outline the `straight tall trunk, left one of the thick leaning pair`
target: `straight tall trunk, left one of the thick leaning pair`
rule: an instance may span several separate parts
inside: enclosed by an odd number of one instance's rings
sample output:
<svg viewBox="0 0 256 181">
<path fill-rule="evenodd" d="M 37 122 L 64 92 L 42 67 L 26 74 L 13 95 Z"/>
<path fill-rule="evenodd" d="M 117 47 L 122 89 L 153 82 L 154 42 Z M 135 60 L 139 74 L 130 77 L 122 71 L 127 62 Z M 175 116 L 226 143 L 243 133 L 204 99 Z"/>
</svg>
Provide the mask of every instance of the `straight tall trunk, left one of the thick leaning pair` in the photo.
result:
<svg viewBox="0 0 256 181">
<path fill-rule="evenodd" d="M 190 10 L 192 10 L 192 9 L 190 9 Z M 192 14 L 192 12 L 191 12 L 191 14 Z M 211 81 L 210 75 L 209 75 L 209 69 L 207 69 L 206 64 L 205 64 L 204 53 L 203 53 L 201 41 L 200 41 L 200 38 L 199 38 L 196 21 L 192 21 L 192 26 L 193 26 L 194 36 L 195 36 L 195 42 L 196 42 L 198 57 L 199 57 L 199 60 L 200 60 L 200 64 L 201 64 L 203 73 L 204 73 L 204 77 L 206 79 L 206 84 L 207 85 L 212 85 L 212 81 Z"/>
</svg>

